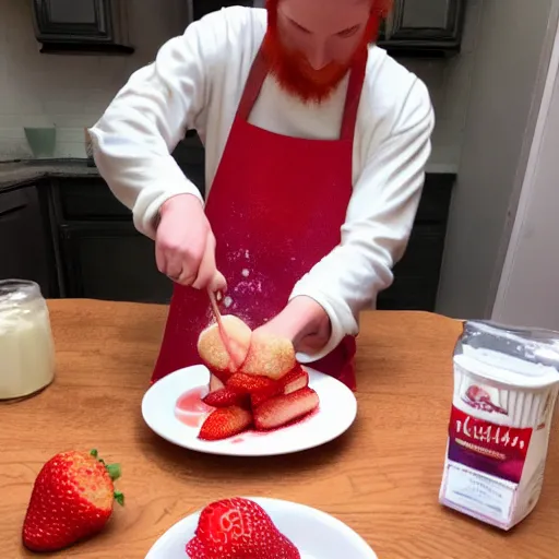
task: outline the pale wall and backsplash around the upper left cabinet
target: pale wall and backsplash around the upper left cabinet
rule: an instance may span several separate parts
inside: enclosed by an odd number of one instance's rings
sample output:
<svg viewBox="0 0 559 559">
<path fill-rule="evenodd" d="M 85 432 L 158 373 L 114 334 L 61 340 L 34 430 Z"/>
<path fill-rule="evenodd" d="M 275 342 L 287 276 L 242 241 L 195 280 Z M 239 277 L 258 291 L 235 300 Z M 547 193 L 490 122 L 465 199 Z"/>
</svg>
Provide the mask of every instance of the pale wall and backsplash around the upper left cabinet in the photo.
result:
<svg viewBox="0 0 559 559">
<path fill-rule="evenodd" d="M 39 53 L 32 1 L 0 0 L 0 160 L 31 157 L 25 126 L 57 126 L 57 156 L 85 157 L 83 128 L 187 24 L 185 0 L 130 2 L 129 57 Z"/>
</svg>

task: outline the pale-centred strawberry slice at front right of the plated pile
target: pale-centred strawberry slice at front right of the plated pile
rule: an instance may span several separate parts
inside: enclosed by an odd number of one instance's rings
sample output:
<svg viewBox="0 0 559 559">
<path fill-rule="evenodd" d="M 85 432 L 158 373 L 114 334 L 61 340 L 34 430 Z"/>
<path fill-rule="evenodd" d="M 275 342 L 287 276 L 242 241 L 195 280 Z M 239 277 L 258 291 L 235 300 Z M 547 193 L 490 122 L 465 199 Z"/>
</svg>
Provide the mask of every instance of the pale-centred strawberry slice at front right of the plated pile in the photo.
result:
<svg viewBox="0 0 559 559">
<path fill-rule="evenodd" d="M 319 395 L 309 386 L 274 396 L 254 408 L 254 426 L 259 430 L 275 429 L 312 412 Z"/>
</svg>

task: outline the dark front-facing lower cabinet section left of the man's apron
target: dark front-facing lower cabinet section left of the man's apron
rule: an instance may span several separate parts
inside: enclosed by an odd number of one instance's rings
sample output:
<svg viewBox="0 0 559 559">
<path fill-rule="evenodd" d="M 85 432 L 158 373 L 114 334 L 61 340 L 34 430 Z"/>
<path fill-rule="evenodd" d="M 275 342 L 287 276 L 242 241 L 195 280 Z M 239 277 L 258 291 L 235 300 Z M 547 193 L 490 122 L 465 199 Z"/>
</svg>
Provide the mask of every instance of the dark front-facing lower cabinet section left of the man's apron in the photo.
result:
<svg viewBox="0 0 559 559">
<path fill-rule="evenodd" d="M 98 177 L 50 183 L 61 297 L 168 302 L 173 283 L 157 270 L 155 243 Z"/>
</svg>

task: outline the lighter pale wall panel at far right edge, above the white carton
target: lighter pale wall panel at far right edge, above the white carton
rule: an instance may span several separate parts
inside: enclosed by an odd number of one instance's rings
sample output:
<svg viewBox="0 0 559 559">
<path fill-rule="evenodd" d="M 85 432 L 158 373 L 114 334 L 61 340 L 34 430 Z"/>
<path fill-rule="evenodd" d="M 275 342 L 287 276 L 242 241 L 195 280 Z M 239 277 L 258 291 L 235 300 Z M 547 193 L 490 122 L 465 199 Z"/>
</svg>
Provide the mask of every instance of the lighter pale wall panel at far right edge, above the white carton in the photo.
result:
<svg viewBox="0 0 559 559">
<path fill-rule="evenodd" d="M 492 318 L 559 330 L 559 28 Z"/>
</svg>

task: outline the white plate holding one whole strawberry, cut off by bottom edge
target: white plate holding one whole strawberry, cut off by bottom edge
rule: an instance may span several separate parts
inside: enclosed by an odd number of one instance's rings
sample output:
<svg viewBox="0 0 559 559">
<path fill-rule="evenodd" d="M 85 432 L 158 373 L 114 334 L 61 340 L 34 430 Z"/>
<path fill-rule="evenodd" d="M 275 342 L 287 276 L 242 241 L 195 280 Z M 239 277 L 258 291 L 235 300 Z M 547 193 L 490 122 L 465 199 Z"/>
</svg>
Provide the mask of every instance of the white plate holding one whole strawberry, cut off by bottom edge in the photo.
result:
<svg viewBox="0 0 559 559">
<path fill-rule="evenodd" d="M 325 512 L 278 499 L 247 499 L 270 514 L 277 530 L 297 547 L 301 559 L 378 559 L 361 536 Z M 200 512 L 171 526 L 157 539 L 145 559 L 187 559 L 186 545 L 194 536 Z"/>
</svg>

